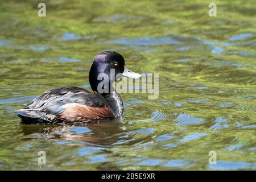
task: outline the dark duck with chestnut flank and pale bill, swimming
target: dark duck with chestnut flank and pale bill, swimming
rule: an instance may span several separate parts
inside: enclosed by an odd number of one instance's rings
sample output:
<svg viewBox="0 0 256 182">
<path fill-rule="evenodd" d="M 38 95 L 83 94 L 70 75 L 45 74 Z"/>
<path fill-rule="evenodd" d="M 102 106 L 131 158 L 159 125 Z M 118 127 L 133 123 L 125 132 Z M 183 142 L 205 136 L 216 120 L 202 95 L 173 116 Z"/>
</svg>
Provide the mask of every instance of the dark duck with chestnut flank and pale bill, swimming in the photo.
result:
<svg viewBox="0 0 256 182">
<path fill-rule="evenodd" d="M 106 77 L 99 79 L 102 74 Z M 121 117 L 123 102 L 112 86 L 121 76 L 141 77 L 126 68 L 119 53 L 102 52 L 94 58 L 89 72 L 93 92 L 75 86 L 47 90 L 15 113 L 23 123 L 87 122 Z"/>
</svg>

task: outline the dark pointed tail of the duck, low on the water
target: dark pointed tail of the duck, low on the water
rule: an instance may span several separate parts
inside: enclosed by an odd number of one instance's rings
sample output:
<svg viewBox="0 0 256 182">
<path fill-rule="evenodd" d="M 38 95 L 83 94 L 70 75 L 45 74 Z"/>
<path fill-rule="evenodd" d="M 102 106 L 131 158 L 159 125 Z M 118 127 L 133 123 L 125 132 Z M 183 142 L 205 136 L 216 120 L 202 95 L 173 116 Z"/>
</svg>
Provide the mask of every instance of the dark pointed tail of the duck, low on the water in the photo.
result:
<svg viewBox="0 0 256 182">
<path fill-rule="evenodd" d="M 14 111 L 22 119 L 22 123 L 33 124 L 33 123 L 49 123 L 45 114 L 40 113 L 38 110 L 19 109 Z"/>
</svg>

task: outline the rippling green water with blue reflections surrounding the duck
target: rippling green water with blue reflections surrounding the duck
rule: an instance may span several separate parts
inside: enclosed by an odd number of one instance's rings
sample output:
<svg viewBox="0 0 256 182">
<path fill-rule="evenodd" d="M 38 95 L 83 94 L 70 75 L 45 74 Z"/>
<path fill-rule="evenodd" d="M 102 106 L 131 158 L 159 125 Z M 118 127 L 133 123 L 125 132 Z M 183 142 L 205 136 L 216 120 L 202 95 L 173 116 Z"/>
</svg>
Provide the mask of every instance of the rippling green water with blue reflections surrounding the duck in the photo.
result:
<svg viewBox="0 0 256 182">
<path fill-rule="evenodd" d="M 256 169 L 255 1 L 0 2 L 0 169 Z M 159 73 L 159 97 L 121 94 L 123 121 L 21 125 L 45 90 L 90 90 L 94 56 Z M 38 166 L 38 152 L 46 165 Z M 217 152 L 210 165 L 209 151 Z"/>
</svg>

